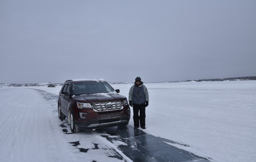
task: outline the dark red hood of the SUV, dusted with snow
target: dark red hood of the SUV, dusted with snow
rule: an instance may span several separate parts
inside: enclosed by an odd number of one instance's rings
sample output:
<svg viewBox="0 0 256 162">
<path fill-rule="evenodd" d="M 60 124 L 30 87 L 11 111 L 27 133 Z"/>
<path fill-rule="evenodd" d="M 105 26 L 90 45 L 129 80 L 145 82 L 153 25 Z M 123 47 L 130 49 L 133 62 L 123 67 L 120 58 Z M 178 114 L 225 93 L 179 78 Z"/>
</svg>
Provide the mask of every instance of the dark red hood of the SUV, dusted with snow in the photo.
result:
<svg viewBox="0 0 256 162">
<path fill-rule="evenodd" d="M 90 95 L 78 95 L 73 96 L 74 100 L 80 102 L 108 102 L 108 101 L 120 101 L 126 99 L 125 96 L 115 93 L 96 93 Z"/>
</svg>

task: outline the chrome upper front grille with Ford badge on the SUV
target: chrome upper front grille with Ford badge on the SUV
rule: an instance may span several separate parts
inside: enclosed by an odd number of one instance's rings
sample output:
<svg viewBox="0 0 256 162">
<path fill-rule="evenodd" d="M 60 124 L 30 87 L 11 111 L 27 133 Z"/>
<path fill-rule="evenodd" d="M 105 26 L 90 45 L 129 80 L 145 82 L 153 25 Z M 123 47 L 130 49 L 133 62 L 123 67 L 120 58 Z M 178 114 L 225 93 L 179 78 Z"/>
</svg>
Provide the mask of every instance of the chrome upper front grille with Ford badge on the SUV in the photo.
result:
<svg viewBox="0 0 256 162">
<path fill-rule="evenodd" d="M 108 111 L 122 109 L 122 101 L 91 103 L 94 111 Z"/>
</svg>

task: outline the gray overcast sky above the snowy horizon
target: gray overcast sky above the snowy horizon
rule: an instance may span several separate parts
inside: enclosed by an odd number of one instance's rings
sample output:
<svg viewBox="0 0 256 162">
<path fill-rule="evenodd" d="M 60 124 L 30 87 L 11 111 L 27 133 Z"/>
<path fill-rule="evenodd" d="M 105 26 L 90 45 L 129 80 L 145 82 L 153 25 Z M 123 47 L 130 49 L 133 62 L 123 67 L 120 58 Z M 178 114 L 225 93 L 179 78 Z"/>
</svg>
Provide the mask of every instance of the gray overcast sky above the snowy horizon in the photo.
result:
<svg viewBox="0 0 256 162">
<path fill-rule="evenodd" d="M 0 0 L 0 83 L 256 76 L 256 0 Z"/>
</svg>

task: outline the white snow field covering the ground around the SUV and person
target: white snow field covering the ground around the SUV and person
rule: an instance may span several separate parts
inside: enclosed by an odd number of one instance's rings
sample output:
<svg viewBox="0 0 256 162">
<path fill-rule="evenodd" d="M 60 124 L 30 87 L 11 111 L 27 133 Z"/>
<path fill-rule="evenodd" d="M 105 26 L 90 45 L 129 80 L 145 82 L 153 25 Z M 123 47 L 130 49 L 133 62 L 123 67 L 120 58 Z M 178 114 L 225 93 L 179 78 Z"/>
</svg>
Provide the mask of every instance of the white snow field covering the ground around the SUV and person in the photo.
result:
<svg viewBox="0 0 256 162">
<path fill-rule="evenodd" d="M 128 98 L 132 84 L 111 84 Z M 153 136 L 189 145 L 173 145 L 212 162 L 256 161 L 256 81 L 144 83 L 148 88 L 146 129 Z M 64 134 L 57 100 L 61 87 L 0 88 L 0 162 L 131 161 L 100 133 Z M 132 111 L 131 111 L 132 112 Z M 133 114 L 131 114 L 133 115 Z M 133 119 L 129 122 L 133 126 Z M 106 136 L 109 136 L 106 134 Z M 86 140 L 82 140 L 86 139 Z M 77 147 L 88 148 L 79 153 Z M 99 150 L 93 141 L 98 142 Z M 118 152 L 124 159 L 111 158 Z"/>
</svg>

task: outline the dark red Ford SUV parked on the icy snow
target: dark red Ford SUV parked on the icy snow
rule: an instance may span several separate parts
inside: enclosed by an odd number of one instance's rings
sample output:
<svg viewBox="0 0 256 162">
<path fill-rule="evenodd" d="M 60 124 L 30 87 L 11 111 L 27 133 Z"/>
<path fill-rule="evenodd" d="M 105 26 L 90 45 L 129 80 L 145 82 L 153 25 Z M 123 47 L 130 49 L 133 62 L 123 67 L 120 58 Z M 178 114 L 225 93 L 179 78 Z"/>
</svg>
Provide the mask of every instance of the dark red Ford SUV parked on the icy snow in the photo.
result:
<svg viewBox="0 0 256 162">
<path fill-rule="evenodd" d="M 126 126 L 131 112 L 127 98 L 103 79 L 64 82 L 58 97 L 58 116 L 68 117 L 73 133 L 102 127 Z"/>
</svg>

